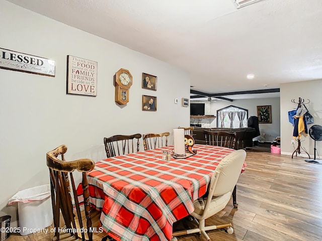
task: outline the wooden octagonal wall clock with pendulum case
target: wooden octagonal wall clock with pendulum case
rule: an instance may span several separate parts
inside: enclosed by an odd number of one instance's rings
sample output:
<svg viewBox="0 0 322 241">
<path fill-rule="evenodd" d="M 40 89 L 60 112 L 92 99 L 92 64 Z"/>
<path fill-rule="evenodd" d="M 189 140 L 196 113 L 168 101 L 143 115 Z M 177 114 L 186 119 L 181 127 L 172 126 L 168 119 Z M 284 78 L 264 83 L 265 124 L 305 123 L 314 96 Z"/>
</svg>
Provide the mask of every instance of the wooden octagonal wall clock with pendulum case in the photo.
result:
<svg viewBox="0 0 322 241">
<path fill-rule="evenodd" d="M 132 75 L 127 69 L 119 69 L 115 73 L 115 102 L 126 104 L 129 102 L 129 89 L 132 85 Z"/>
</svg>

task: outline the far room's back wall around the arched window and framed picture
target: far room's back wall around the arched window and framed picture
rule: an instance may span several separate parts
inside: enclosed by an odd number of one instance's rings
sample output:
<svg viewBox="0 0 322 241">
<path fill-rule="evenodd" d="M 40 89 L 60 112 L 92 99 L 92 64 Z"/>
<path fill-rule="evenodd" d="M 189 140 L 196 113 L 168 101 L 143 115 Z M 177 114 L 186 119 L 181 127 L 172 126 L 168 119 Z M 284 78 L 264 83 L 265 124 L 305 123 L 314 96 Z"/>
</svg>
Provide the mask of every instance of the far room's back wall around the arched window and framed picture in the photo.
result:
<svg viewBox="0 0 322 241">
<path fill-rule="evenodd" d="M 280 98 L 258 98 L 258 99 L 236 99 L 232 102 L 226 100 L 216 100 L 211 102 L 210 112 L 208 114 L 217 115 L 217 110 L 229 105 L 248 109 L 248 116 L 257 116 L 257 105 L 271 105 L 272 124 L 259 124 L 261 138 L 272 142 L 280 136 Z M 217 127 L 217 117 L 211 123 L 211 127 Z"/>
</svg>

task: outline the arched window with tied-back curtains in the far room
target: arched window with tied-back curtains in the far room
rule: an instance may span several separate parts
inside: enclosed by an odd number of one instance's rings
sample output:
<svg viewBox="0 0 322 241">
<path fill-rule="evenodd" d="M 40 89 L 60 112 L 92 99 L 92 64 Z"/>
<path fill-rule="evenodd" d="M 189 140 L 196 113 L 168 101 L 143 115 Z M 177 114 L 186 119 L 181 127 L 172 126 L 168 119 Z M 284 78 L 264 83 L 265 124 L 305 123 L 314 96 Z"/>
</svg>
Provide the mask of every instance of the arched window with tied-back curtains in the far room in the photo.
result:
<svg viewBox="0 0 322 241">
<path fill-rule="evenodd" d="M 248 109 L 229 105 L 217 110 L 217 127 L 244 128 L 247 127 Z"/>
</svg>

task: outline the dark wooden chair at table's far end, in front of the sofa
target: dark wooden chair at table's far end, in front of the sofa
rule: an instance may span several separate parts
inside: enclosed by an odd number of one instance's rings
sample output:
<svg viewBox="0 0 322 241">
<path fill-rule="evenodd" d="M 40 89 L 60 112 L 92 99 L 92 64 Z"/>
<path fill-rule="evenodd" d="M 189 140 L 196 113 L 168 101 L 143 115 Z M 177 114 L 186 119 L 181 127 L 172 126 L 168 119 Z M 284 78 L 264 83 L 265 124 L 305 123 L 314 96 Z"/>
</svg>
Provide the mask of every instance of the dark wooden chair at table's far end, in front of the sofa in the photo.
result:
<svg viewBox="0 0 322 241">
<path fill-rule="evenodd" d="M 204 131 L 206 145 L 227 147 L 234 149 L 236 143 L 236 133 Z M 232 203 L 235 208 L 238 207 L 236 197 L 236 186 L 232 191 Z"/>
</svg>

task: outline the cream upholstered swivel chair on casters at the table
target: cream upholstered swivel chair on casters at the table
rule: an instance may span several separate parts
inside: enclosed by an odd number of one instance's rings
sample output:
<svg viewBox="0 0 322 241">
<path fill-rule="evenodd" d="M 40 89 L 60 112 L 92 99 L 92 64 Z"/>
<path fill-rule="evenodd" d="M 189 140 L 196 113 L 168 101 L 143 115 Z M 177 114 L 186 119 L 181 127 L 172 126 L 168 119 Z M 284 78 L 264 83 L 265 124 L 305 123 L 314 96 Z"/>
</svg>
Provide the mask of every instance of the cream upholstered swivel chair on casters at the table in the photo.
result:
<svg viewBox="0 0 322 241">
<path fill-rule="evenodd" d="M 195 220 L 198 228 L 174 232 L 172 240 L 177 239 L 175 236 L 199 232 L 207 241 L 211 241 L 206 231 L 220 228 L 226 228 L 228 233 L 233 233 L 231 223 L 205 226 L 205 219 L 224 209 L 229 202 L 245 158 L 246 152 L 237 150 L 220 161 L 210 180 L 208 193 L 194 202 L 195 210 L 190 214 L 198 220 Z"/>
</svg>

